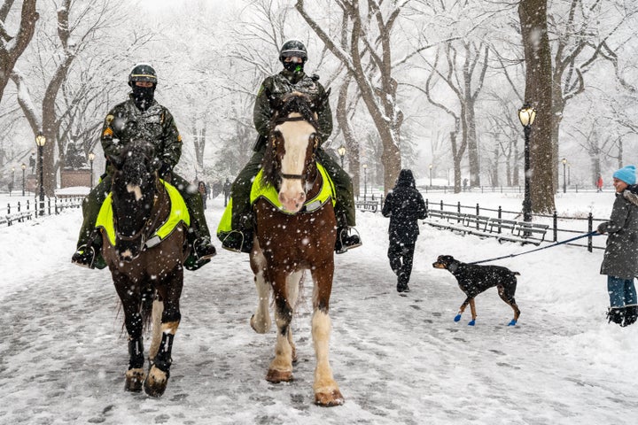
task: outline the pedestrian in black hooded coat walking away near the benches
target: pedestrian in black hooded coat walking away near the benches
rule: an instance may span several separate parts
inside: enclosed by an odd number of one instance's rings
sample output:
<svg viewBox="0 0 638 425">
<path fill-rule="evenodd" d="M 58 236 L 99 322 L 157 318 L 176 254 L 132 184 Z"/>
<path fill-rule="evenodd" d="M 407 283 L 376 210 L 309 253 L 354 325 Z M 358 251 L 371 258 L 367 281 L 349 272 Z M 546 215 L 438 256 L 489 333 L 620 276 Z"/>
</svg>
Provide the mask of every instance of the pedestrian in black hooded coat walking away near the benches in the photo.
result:
<svg viewBox="0 0 638 425">
<path fill-rule="evenodd" d="M 419 235 L 418 220 L 426 215 L 424 199 L 416 190 L 410 170 L 401 170 L 396 186 L 385 197 L 382 213 L 384 217 L 390 217 L 388 259 L 397 275 L 397 291 L 409 292 L 408 282 Z"/>
</svg>

